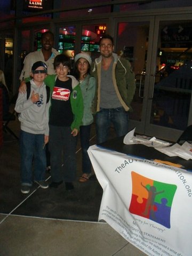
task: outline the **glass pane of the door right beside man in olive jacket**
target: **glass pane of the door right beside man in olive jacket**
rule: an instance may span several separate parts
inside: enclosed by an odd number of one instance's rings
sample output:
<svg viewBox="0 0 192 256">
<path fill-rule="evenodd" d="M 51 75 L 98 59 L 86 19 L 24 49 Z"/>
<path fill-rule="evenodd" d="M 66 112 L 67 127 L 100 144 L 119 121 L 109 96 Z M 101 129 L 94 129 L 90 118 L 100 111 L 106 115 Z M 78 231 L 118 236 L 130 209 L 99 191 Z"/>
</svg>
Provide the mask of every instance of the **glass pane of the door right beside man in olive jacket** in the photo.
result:
<svg viewBox="0 0 192 256">
<path fill-rule="evenodd" d="M 133 112 L 130 112 L 130 119 L 139 122 L 141 122 L 143 107 L 148 36 L 149 22 L 118 24 L 116 52 L 130 61 L 135 73 L 136 91 L 132 101 Z"/>
</svg>

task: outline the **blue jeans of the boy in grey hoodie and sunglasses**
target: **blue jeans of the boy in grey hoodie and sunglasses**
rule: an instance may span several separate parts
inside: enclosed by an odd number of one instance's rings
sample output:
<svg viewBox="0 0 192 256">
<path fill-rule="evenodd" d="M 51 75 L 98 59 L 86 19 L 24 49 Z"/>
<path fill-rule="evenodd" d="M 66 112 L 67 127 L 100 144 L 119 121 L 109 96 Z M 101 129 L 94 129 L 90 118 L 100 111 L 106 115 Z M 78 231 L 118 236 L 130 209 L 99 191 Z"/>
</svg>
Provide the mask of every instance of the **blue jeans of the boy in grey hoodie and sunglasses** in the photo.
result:
<svg viewBox="0 0 192 256">
<path fill-rule="evenodd" d="M 44 145 L 44 134 L 33 134 L 20 132 L 21 152 L 21 185 L 32 186 L 33 184 L 33 162 L 34 180 L 45 179 L 46 155 Z"/>
</svg>

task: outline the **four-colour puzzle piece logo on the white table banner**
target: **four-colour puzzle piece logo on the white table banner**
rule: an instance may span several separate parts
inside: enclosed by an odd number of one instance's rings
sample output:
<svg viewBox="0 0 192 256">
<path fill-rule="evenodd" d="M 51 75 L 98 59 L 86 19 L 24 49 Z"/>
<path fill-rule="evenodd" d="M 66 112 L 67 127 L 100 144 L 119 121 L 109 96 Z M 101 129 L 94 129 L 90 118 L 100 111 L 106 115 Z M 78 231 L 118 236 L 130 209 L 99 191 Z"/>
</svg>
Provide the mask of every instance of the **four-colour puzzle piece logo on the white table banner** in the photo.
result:
<svg viewBox="0 0 192 256">
<path fill-rule="evenodd" d="M 130 212 L 170 228 L 170 214 L 177 186 L 148 179 L 131 172 Z"/>
</svg>

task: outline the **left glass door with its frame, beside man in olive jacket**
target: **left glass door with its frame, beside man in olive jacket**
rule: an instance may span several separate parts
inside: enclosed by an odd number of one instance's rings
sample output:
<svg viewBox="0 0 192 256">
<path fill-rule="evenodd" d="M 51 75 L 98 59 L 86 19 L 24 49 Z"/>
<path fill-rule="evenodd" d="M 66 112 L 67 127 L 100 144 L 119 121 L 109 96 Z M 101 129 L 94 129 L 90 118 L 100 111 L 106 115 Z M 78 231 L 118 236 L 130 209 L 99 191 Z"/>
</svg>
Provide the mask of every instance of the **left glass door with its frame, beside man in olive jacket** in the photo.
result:
<svg viewBox="0 0 192 256">
<path fill-rule="evenodd" d="M 150 61 L 154 33 L 154 18 L 139 17 L 117 21 L 116 52 L 131 62 L 135 74 L 136 91 L 130 113 L 130 129 L 144 134 L 148 90 L 150 82 Z"/>
</svg>

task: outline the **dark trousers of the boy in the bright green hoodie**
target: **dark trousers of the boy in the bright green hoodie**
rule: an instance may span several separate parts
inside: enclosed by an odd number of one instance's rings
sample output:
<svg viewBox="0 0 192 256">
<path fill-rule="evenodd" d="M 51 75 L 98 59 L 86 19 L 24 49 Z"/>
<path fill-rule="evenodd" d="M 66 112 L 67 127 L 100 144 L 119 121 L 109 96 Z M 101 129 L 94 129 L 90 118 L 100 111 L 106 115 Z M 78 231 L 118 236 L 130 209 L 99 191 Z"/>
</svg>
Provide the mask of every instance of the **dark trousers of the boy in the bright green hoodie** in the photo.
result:
<svg viewBox="0 0 192 256">
<path fill-rule="evenodd" d="M 73 182 L 76 178 L 77 136 L 71 135 L 70 126 L 50 125 L 49 150 L 53 182 Z"/>
</svg>

